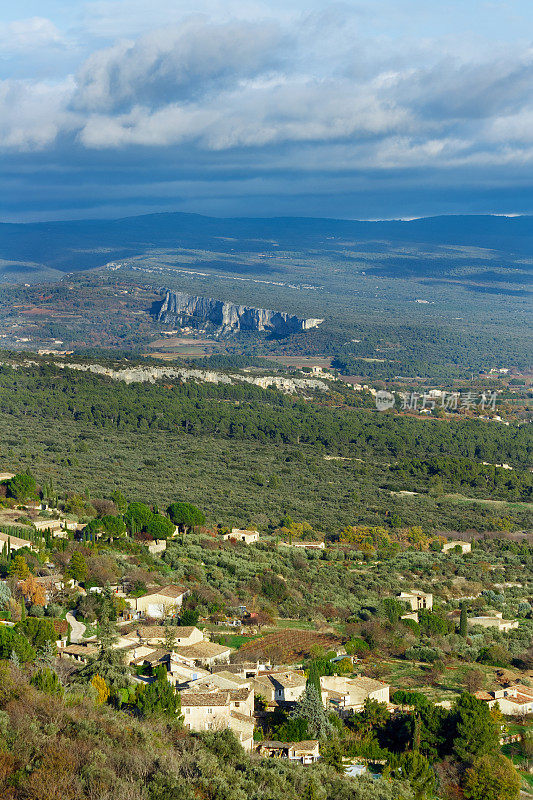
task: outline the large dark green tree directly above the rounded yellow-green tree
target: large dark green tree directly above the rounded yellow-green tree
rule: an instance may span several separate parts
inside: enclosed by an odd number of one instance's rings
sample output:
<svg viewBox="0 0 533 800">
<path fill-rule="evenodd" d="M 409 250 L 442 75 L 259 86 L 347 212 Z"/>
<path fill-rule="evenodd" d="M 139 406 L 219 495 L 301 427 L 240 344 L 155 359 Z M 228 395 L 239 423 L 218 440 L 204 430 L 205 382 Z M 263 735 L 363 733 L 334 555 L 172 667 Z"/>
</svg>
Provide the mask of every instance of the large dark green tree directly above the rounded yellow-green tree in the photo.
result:
<svg viewBox="0 0 533 800">
<path fill-rule="evenodd" d="M 464 692 L 456 701 L 453 713 L 453 749 L 460 761 L 472 761 L 498 750 L 498 731 L 490 709 L 483 700 Z"/>
</svg>

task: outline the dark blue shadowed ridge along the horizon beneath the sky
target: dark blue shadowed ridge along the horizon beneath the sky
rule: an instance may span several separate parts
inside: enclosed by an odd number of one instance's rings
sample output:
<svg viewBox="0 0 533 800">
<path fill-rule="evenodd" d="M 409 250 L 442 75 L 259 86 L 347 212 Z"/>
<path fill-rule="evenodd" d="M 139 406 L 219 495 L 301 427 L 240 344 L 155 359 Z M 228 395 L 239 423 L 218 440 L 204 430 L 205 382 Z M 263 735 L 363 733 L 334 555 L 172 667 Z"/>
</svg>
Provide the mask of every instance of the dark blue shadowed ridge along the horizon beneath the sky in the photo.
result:
<svg viewBox="0 0 533 800">
<path fill-rule="evenodd" d="M 90 269 L 154 249 L 197 248 L 261 252 L 365 249 L 416 245 L 479 247 L 513 258 L 533 255 L 533 217 L 441 216 L 412 221 L 361 222 L 301 217 L 215 218 L 166 213 L 117 220 L 0 224 L 0 260 L 60 272 Z M 10 266 L 17 271 L 16 264 Z M 22 263 L 20 271 L 23 271 Z"/>
</svg>

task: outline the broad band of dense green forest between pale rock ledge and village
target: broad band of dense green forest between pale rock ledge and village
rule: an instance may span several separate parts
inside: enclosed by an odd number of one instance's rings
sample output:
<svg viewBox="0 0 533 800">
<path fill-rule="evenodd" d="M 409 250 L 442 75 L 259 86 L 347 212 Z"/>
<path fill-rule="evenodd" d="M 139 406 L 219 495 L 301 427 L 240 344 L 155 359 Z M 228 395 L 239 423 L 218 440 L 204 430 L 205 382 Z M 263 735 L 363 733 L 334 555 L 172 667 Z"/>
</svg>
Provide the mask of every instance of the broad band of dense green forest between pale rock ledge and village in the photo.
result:
<svg viewBox="0 0 533 800">
<path fill-rule="evenodd" d="M 290 513 L 330 533 L 392 514 L 426 528 L 531 527 L 517 502 L 531 486 L 527 426 L 419 420 L 250 385 L 126 385 L 53 366 L 4 365 L 0 410 L 4 463 L 64 492 L 112 486 L 161 504 L 181 494 L 225 524 Z M 502 460 L 516 469 L 480 466 Z M 393 494 L 402 490 L 418 494 Z"/>
</svg>

